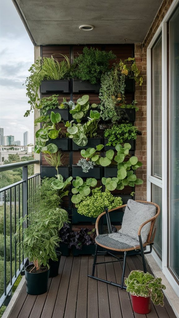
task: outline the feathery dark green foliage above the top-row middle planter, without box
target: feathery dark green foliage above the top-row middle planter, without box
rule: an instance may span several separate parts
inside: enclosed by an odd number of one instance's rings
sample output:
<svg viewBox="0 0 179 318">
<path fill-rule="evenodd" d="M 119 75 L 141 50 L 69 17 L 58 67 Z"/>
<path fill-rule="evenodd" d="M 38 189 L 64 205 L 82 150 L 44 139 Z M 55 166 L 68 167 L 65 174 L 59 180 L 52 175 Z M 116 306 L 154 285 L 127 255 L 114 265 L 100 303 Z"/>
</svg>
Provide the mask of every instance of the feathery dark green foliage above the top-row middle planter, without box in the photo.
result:
<svg viewBox="0 0 179 318">
<path fill-rule="evenodd" d="M 84 47 L 83 53 L 74 59 L 74 77 L 81 80 L 89 80 L 96 84 L 101 75 L 109 71 L 109 60 L 116 59 L 111 51 L 99 51 L 98 49 Z"/>
</svg>

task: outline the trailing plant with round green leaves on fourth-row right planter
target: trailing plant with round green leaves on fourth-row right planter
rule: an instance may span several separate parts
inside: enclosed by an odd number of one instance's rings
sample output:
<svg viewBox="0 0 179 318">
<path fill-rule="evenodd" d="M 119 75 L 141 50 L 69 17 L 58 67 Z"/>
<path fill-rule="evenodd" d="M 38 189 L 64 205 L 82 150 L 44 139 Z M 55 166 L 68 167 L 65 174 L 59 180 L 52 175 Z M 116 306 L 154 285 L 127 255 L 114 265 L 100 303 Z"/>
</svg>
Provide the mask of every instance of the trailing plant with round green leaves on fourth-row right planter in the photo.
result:
<svg viewBox="0 0 179 318">
<path fill-rule="evenodd" d="M 129 150 L 131 149 L 131 145 L 125 143 L 124 147 L 117 145 L 115 148 L 117 155 L 114 157 L 114 161 L 118 164 L 118 172 L 116 177 L 102 178 L 105 188 L 109 191 L 115 189 L 123 190 L 125 186 L 134 187 L 135 184 L 142 184 L 143 180 L 137 178 L 134 174 L 134 171 L 142 166 L 142 162 L 138 161 L 136 156 L 130 156 Z M 125 161 L 125 158 L 128 160 Z"/>
</svg>

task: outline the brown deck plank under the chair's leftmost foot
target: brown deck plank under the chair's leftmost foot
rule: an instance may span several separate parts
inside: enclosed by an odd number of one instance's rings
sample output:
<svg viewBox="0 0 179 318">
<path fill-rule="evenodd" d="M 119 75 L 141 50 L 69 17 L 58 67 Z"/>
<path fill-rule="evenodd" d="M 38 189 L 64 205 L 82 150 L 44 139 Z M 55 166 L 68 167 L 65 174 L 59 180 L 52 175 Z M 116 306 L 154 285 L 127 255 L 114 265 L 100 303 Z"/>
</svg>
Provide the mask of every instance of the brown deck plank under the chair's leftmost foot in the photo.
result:
<svg viewBox="0 0 179 318">
<path fill-rule="evenodd" d="M 88 273 L 91 275 L 93 267 L 93 257 L 89 256 Z M 97 270 L 95 269 L 95 275 Z M 98 299 L 97 299 L 97 280 L 88 278 L 88 318 L 99 318 Z"/>
</svg>

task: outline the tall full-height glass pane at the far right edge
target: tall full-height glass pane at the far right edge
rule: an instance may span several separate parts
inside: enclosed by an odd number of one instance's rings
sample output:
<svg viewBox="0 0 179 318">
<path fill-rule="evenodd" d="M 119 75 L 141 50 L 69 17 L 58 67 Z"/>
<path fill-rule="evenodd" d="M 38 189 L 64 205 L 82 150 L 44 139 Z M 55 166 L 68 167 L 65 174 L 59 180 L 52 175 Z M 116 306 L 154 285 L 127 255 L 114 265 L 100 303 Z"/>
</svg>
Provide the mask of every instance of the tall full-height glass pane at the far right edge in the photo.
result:
<svg viewBox="0 0 179 318">
<path fill-rule="evenodd" d="M 179 279 L 179 8 L 170 28 L 170 257 Z"/>
</svg>

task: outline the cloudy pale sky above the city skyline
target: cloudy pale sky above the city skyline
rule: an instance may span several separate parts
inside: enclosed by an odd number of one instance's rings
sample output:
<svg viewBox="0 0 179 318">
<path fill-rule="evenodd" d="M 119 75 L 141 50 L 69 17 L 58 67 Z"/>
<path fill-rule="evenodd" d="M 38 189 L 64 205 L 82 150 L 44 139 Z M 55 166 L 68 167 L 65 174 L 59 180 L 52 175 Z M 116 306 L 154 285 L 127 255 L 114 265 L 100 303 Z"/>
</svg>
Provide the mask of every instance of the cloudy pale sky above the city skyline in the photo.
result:
<svg viewBox="0 0 179 318">
<path fill-rule="evenodd" d="M 0 4 L 0 127 L 23 145 L 23 133 L 33 142 L 33 113 L 26 97 L 26 77 L 34 61 L 34 47 L 12 0 Z"/>
</svg>

